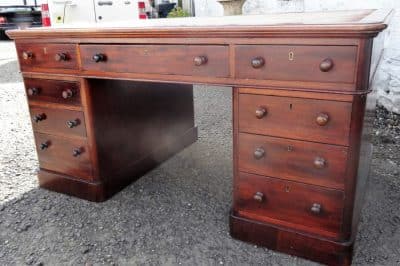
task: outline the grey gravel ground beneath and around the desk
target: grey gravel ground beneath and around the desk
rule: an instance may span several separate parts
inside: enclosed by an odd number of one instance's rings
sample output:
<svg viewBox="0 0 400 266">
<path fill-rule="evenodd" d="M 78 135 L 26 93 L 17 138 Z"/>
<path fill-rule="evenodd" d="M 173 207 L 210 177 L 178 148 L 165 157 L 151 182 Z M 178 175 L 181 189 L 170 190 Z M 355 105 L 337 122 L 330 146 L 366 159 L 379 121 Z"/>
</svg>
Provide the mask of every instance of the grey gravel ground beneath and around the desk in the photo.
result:
<svg viewBox="0 0 400 266">
<path fill-rule="evenodd" d="M 229 236 L 229 88 L 197 86 L 199 140 L 110 200 L 91 203 L 38 188 L 12 42 L 0 42 L 0 73 L 0 265 L 315 265 Z M 400 265 L 400 122 L 377 113 L 354 265 Z"/>
</svg>

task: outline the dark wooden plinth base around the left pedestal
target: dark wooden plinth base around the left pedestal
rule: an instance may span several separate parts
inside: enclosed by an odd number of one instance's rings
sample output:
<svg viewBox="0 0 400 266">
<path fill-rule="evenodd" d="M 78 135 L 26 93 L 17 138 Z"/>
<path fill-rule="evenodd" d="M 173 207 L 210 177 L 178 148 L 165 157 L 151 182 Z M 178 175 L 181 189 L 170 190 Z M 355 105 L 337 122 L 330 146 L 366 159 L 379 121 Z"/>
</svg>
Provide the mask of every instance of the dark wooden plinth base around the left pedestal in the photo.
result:
<svg viewBox="0 0 400 266">
<path fill-rule="evenodd" d="M 176 138 L 168 145 L 160 147 L 138 163 L 133 164 L 129 174 L 110 177 L 106 181 L 89 182 L 53 171 L 40 169 L 39 186 L 51 191 L 75 196 L 81 199 L 101 202 L 112 197 L 146 172 L 172 157 L 197 140 L 197 127 L 191 128 L 185 135 Z"/>
</svg>

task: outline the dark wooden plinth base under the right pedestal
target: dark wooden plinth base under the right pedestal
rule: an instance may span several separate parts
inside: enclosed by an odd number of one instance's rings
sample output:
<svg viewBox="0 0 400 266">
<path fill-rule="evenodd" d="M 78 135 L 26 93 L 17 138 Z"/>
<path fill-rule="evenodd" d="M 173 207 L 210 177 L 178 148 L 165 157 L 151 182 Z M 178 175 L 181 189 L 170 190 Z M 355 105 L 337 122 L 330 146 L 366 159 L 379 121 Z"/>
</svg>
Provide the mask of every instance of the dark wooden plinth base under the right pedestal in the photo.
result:
<svg viewBox="0 0 400 266">
<path fill-rule="evenodd" d="M 230 215 L 232 237 L 327 265 L 351 265 L 354 241 L 335 242 Z"/>
</svg>

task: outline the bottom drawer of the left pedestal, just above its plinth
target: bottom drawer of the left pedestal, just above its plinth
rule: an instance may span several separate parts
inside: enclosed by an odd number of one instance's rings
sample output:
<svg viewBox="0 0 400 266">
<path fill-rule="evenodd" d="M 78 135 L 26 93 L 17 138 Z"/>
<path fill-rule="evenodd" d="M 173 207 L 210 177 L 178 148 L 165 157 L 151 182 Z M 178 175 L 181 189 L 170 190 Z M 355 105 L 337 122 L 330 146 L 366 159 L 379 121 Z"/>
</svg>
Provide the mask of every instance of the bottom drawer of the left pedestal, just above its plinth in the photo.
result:
<svg viewBox="0 0 400 266">
<path fill-rule="evenodd" d="M 35 133 L 40 167 L 91 179 L 92 165 L 85 140 Z"/>
</svg>

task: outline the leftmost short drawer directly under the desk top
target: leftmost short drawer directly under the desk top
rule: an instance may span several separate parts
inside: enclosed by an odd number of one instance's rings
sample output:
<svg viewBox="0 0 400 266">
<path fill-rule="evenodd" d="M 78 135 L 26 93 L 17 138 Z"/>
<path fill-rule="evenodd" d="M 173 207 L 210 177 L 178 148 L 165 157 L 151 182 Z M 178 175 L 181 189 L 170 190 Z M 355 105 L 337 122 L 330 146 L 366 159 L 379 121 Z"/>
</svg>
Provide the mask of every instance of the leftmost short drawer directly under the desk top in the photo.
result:
<svg viewBox="0 0 400 266">
<path fill-rule="evenodd" d="M 17 43 L 16 47 L 22 70 L 78 68 L 75 44 Z"/>
</svg>

